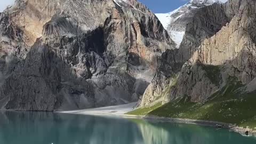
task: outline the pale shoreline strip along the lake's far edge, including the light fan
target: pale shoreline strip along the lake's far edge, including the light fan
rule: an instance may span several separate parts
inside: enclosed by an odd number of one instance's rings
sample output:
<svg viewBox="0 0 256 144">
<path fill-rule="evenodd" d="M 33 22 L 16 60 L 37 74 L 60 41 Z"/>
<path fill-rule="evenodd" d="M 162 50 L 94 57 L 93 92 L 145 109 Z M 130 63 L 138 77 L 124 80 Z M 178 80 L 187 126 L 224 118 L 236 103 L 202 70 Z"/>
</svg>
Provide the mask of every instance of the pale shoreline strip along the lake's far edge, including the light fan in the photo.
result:
<svg viewBox="0 0 256 144">
<path fill-rule="evenodd" d="M 185 124 L 196 124 L 196 125 L 206 125 L 217 127 L 217 129 L 228 129 L 233 132 L 237 132 L 246 137 L 256 137 L 256 131 L 252 129 L 245 129 L 243 127 L 238 127 L 234 124 L 215 122 L 215 121 L 203 121 L 197 119 L 183 119 L 183 118 L 170 118 L 170 117 L 159 117 L 159 116 L 145 116 L 145 115 L 128 115 L 129 111 L 133 109 L 136 103 L 127 103 L 125 105 L 118 106 L 108 106 L 92 109 L 80 109 L 80 110 L 70 110 L 70 111 L 51 111 L 51 113 L 62 113 L 62 114 L 77 114 L 77 115 L 97 115 L 97 116 L 112 116 L 120 118 L 137 118 L 145 119 L 148 121 L 159 121 L 167 123 L 185 123 Z M 3 109 L 2 109 L 3 110 Z M 4 111 L 27 111 L 27 110 L 4 110 Z M 36 112 L 36 111 L 35 111 Z M 37 111 L 38 112 L 38 111 Z M 249 133 L 246 135 L 246 131 Z"/>
</svg>

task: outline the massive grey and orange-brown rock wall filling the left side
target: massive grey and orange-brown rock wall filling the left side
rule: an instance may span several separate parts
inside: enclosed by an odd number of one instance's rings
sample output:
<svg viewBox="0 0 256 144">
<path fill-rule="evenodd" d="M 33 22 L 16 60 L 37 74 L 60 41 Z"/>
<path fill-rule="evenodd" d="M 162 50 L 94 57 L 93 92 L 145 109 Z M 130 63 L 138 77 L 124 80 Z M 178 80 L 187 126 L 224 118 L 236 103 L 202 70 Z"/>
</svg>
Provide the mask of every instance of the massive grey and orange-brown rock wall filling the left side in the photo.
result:
<svg viewBox="0 0 256 144">
<path fill-rule="evenodd" d="M 5 54 L 12 55 L 10 62 L 2 57 L 0 107 L 6 109 L 52 111 L 136 101 L 157 58 L 174 45 L 155 15 L 133 0 L 19 0 L 2 17 L 0 39 L 14 43 Z M 1 50 L 6 47 L 1 43 Z"/>
</svg>

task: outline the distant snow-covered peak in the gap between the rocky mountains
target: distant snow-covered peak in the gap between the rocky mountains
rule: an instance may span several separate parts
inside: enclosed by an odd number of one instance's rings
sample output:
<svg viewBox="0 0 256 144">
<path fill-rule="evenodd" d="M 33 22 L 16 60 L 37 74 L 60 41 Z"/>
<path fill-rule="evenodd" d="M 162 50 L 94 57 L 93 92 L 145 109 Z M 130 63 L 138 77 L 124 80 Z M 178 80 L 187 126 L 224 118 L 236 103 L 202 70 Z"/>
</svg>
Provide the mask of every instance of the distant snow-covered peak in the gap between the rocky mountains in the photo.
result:
<svg viewBox="0 0 256 144">
<path fill-rule="evenodd" d="M 156 16 L 177 44 L 177 48 L 179 48 L 183 36 L 185 35 L 187 23 L 193 20 L 194 15 L 199 9 L 214 3 L 225 2 L 227 2 L 227 0 L 191 0 L 177 10 L 169 13 L 157 13 Z"/>
</svg>

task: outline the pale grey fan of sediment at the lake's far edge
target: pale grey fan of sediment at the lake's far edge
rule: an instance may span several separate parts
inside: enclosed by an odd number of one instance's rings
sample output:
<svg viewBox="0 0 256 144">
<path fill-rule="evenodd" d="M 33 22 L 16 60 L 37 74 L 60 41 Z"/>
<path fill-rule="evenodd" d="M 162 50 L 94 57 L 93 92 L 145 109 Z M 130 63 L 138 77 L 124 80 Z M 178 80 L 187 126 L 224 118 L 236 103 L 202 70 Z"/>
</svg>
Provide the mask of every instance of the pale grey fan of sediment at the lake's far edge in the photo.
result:
<svg viewBox="0 0 256 144">
<path fill-rule="evenodd" d="M 83 110 L 72 110 L 72 111 L 59 111 L 59 113 L 68 114 L 82 114 L 82 115 L 124 115 L 129 111 L 132 111 L 136 106 L 137 102 L 128 103 L 125 105 L 109 106 L 101 108 L 83 109 Z"/>
</svg>

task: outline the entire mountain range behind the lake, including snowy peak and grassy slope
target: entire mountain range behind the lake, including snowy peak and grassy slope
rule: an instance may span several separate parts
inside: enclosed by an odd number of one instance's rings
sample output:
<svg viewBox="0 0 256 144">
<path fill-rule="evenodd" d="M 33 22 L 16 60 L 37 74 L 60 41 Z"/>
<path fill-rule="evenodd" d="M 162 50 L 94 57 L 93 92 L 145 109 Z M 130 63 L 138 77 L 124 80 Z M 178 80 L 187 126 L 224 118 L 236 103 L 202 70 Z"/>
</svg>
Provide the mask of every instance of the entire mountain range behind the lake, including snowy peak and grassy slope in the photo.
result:
<svg viewBox="0 0 256 144">
<path fill-rule="evenodd" d="M 0 13 L 0 108 L 138 101 L 129 114 L 255 130 L 256 1 L 225 2 L 190 1 L 163 27 L 135 0 L 18 0 Z"/>
</svg>

